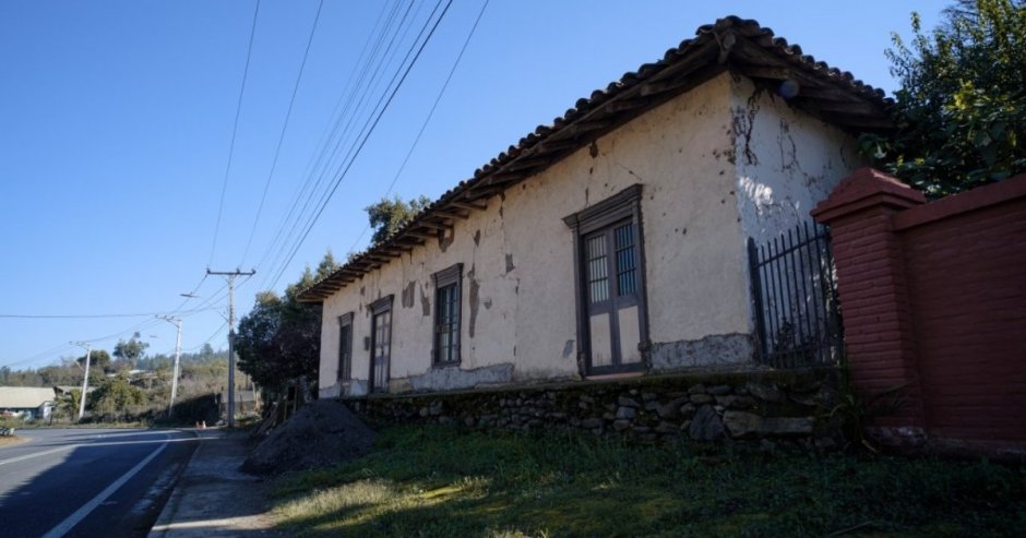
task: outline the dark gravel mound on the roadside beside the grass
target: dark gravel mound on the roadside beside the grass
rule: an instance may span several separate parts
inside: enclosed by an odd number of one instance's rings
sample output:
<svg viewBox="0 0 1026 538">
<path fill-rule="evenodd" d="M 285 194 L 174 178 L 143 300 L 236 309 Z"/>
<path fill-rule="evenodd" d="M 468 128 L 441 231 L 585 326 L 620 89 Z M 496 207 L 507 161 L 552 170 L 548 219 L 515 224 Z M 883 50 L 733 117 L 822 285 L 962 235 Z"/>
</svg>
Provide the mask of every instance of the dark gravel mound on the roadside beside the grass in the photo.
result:
<svg viewBox="0 0 1026 538">
<path fill-rule="evenodd" d="M 377 434 L 337 399 L 319 399 L 275 428 L 242 463 L 242 470 L 277 475 L 339 465 L 370 451 Z"/>
</svg>

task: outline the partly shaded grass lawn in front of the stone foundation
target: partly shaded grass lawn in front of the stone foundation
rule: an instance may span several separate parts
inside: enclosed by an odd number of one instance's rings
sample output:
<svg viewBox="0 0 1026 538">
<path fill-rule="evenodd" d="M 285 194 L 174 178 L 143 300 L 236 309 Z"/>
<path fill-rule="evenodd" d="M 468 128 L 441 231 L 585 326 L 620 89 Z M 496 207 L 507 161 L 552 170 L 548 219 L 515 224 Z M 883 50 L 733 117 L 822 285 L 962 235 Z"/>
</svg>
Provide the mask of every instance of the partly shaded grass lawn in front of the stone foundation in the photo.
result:
<svg viewBox="0 0 1026 538">
<path fill-rule="evenodd" d="M 1026 469 L 393 427 L 278 485 L 303 536 L 1024 536 Z"/>
</svg>

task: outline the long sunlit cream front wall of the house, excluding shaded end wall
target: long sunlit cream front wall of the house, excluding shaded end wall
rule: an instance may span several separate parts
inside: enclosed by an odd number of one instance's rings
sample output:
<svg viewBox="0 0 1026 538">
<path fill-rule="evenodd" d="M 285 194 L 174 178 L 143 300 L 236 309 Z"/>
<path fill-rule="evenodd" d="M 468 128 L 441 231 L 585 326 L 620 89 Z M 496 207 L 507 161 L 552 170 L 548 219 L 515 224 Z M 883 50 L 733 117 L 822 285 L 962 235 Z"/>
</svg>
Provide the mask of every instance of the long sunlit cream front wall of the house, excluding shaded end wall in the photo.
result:
<svg viewBox="0 0 1026 538">
<path fill-rule="evenodd" d="M 462 387 L 465 375 L 431 369 L 423 304 L 433 301 L 431 275 L 455 263 L 464 264 L 460 370 L 509 372 L 510 382 L 577 376 L 573 235 L 562 218 L 634 183 L 643 184 L 651 340 L 749 333 L 736 89 L 723 74 L 644 113 L 457 220 L 444 250 L 428 241 L 325 300 L 320 386 L 336 385 L 337 318 L 350 311 L 353 376 L 368 378 L 367 306 L 394 294 L 391 388 Z"/>
</svg>

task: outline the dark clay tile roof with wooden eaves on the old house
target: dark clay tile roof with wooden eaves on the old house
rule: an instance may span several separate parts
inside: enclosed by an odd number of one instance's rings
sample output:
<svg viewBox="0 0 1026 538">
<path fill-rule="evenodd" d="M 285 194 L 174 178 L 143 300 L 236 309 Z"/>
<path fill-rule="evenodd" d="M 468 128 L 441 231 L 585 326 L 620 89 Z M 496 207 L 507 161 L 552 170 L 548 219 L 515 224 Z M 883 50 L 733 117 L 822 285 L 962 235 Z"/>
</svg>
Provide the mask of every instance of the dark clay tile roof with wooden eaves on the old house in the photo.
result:
<svg viewBox="0 0 1026 538">
<path fill-rule="evenodd" d="M 299 299 L 321 302 L 347 284 L 389 263 L 403 252 L 438 237 L 456 219 L 484 210 L 503 190 L 558 163 L 603 134 L 723 73 L 743 74 L 776 88 L 797 83 L 789 101 L 823 121 L 851 133 L 893 129 L 887 108 L 893 104 L 881 89 L 856 80 L 790 45 L 752 20 L 727 16 L 701 26 L 695 37 L 668 49 L 663 58 L 624 73 L 604 89 L 577 99 L 551 124 L 501 152 L 421 211 L 387 240 L 357 255 L 342 268 L 303 290 Z"/>
</svg>

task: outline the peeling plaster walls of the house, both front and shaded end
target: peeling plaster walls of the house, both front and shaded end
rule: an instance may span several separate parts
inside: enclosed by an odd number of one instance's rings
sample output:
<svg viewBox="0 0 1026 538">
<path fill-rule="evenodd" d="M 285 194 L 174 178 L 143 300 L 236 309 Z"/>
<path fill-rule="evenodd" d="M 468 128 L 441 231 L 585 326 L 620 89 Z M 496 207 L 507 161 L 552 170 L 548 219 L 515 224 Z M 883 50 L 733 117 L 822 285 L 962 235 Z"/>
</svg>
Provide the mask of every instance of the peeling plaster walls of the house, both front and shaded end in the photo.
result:
<svg viewBox="0 0 1026 538">
<path fill-rule="evenodd" d="M 325 300 L 321 393 L 342 390 L 337 318 L 347 312 L 357 381 L 346 391 L 366 390 L 367 307 L 390 294 L 394 392 L 577 376 L 573 234 L 562 218 L 635 183 L 653 368 L 745 361 L 745 238 L 807 218 L 857 163 L 839 131 L 720 75 L 492 198 L 488 211 L 455 223 L 444 250 L 428 241 Z M 464 277 L 454 373 L 431 368 L 431 276 L 455 263 Z"/>
</svg>

